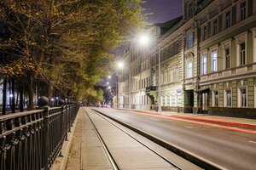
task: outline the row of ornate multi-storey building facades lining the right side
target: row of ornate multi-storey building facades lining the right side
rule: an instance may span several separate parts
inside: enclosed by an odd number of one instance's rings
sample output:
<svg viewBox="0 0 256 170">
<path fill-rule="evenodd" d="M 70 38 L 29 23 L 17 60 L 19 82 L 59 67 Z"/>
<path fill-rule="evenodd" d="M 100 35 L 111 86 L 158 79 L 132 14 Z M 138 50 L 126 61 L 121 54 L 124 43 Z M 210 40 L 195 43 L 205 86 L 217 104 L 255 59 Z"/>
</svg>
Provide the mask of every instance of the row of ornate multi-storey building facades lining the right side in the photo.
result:
<svg viewBox="0 0 256 170">
<path fill-rule="evenodd" d="M 183 0 L 183 17 L 153 30 L 163 111 L 256 117 L 255 1 Z M 120 82 L 119 94 L 125 96 L 121 87 L 128 94 L 131 89 L 131 108 L 158 105 L 157 57 L 157 48 L 136 44 L 123 57 L 129 58 L 131 74 Z M 123 103 L 129 104 L 126 98 Z"/>
</svg>

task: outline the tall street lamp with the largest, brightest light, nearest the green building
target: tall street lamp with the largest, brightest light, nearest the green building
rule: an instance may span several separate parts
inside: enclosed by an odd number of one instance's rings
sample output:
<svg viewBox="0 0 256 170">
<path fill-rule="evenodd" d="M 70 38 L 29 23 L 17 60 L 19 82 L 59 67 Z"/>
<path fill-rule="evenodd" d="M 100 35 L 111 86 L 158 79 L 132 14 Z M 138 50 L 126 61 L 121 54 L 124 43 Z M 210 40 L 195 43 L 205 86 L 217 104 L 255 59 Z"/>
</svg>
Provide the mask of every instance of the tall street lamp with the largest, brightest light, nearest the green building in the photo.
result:
<svg viewBox="0 0 256 170">
<path fill-rule="evenodd" d="M 160 85 L 160 47 L 157 43 L 150 42 L 149 37 L 146 34 L 143 34 L 139 37 L 138 42 L 142 45 L 146 45 L 148 43 L 153 44 L 158 49 L 158 111 L 162 111 L 161 109 L 161 85 Z"/>
</svg>

